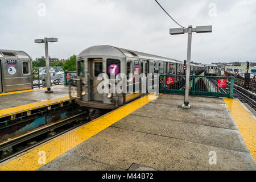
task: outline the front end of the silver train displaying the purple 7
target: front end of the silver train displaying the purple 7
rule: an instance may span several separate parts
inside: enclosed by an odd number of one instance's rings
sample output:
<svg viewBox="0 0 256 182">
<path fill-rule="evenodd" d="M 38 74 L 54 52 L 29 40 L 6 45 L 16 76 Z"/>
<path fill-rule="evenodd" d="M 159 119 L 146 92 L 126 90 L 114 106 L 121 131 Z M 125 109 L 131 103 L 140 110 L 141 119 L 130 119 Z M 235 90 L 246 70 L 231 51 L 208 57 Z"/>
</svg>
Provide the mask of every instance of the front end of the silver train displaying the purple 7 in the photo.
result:
<svg viewBox="0 0 256 182">
<path fill-rule="evenodd" d="M 124 71 L 125 65 L 126 56 L 114 47 L 94 46 L 82 51 L 77 56 L 76 102 L 96 109 L 114 109 L 117 102 L 123 104 L 122 96 L 99 92 L 98 85 L 102 80 L 98 77 L 104 73 L 109 77 L 116 76 Z"/>
</svg>

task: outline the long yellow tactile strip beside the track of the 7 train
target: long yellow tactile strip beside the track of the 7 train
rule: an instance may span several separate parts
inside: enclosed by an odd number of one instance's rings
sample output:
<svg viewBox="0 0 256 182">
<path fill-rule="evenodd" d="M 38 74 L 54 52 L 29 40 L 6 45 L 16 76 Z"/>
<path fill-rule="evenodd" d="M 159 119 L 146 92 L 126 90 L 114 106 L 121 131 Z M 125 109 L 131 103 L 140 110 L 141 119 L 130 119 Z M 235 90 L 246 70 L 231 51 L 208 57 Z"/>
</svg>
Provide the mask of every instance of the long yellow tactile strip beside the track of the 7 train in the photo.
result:
<svg viewBox="0 0 256 182">
<path fill-rule="evenodd" d="M 120 107 L 117 110 L 106 114 L 87 125 L 81 126 L 76 130 L 73 130 L 59 138 L 52 140 L 49 143 L 44 144 L 38 148 L 35 148 L 31 152 L 19 156 L 18 158 L 12 160 L 9 163 L 0 166 L 0 170 L 4 171 L 34 171 L 39 169 L 51 162 L 53 159 L 64 154 L 65 152 L 71 150 L 73 147 L 84 142 L 86 139 L 96 135 L 100 131 L 106 129 L 107 127 L 113 125 L 115 122 L 126 117 L 133 111 L 137 110 L 139 107 L 152 101 L 152 99 L 157 98 L 154 94 L 139 98 Z"/>
</svg>

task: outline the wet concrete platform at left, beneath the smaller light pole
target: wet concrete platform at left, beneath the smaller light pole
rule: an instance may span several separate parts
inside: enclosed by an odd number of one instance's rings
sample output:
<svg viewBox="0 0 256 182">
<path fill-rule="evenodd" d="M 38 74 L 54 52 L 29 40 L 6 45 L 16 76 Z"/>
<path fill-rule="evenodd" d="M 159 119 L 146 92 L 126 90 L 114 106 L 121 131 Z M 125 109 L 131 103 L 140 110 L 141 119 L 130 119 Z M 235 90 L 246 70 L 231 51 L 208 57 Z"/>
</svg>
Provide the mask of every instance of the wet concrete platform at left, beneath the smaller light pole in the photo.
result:
<svg viewBox="0 0 256 182">
<path fill-rule="evenodd" d="M 0 110 L 27 105 L 34 102 L 52 100 L 53 98 L 69 96 L 67 86 L 52 87 L 53 93 L 45 93 L 46 88 L 22 90 L 0 94 Z"/>
</svg>

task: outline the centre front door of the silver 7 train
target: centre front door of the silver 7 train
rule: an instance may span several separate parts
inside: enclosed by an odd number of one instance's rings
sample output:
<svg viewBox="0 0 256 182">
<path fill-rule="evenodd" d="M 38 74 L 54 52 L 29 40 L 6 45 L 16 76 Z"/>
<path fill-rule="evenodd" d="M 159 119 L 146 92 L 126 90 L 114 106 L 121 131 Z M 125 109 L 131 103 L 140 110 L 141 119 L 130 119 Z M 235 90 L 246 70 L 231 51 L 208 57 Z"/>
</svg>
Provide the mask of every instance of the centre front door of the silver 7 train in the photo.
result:
<svg viewBox="0 0 256 182">
<path fill-rule="evenodd" d="M 97 80 L 102 73 L 102 59 L 90 60 L 90 100 L 103 101 L 102 94 L 98 93 L 97 87 L 101 80 Z"/>
</svg>

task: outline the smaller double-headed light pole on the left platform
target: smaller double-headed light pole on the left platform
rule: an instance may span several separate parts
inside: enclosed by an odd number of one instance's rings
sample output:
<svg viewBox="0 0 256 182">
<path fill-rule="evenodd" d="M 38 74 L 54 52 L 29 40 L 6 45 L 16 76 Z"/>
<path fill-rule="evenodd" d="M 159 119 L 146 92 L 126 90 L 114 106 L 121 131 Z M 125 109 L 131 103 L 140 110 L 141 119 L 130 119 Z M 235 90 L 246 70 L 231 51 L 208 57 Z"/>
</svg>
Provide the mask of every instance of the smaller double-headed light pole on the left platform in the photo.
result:
<svg viewBox="0 0 256 182">
<path fill-rule="evenodd" d="M 44 38 L 44 39 L 35 39 L 35 43 L 41 44 L 44 43 L 44 48 L 46 51 L 46 93 L 52 93 L 51 91 L 51 77 L 49 73 L 49 56 L 48 56 L 48 42 L 58 42 L 57 38 Z"/>
</svg>

